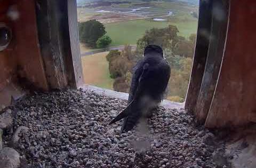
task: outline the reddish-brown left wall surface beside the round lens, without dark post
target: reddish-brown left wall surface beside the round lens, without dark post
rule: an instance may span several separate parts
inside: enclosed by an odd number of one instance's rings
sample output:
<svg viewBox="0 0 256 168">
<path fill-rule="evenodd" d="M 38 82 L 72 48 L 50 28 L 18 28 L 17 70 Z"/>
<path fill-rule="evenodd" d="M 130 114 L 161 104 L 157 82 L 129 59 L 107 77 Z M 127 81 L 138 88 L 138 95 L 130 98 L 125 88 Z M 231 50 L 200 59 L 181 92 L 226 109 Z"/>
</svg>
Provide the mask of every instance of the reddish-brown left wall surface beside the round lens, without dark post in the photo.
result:
<svg viewBox="0 0 256 168">
<path fill-rule="evenodd" d="M 16 12 L 11 17 L 10 9 Z M 11 103 L 11 97 L 22 94 L 17 83 L 28 87 L 33 85 L 42 90 L 47 90 L 48 87 L 38 47 L 34 1 L 1 1 L 0 13 L 0 22 L 12 29 L 10 45 L 0 52 L 1 110 Z"/>
</svg>

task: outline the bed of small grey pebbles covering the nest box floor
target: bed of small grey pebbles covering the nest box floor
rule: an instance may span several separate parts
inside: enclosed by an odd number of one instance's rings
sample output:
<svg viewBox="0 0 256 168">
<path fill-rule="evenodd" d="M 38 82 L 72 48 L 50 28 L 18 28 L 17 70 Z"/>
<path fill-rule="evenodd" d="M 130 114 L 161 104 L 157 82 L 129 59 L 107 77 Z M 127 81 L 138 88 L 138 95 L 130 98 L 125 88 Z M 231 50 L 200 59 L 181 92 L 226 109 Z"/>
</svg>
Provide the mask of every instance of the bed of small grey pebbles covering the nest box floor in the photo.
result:
<svg viewBox="0 0 256 168">
<path fill-rule="evenodd" d="M 15 147 L 23 167 L 217 167 L 214 135 L 197 127 L 186 110 L 159 107 L 148 119 L 148 133 L 122 134 L 121 122 L 108 123 L 126 103 L 78 90 L 19 101 L 12 107 L 13 130 L 29 128 Z"/>
</svg>

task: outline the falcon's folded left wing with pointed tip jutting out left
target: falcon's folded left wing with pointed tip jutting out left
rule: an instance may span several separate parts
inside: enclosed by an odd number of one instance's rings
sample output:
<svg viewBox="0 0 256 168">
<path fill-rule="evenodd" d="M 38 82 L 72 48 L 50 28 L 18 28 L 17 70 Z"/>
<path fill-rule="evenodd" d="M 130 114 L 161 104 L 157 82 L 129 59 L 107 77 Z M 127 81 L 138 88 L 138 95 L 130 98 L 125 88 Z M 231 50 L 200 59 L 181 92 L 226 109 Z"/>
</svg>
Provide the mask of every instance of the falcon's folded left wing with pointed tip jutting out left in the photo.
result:
<svg viewBox="0 0 256 168">
<path fill-rule="evenodd" d="M 137 87 L 135 87 L 135 91 L 133 91 L 133 95 L 132 95 L 133 99 L 130 101 L 129 105 L 119 115 L 117 115 L 113 119 L 113 121 L 111 121 L 109 123 L 109 124 L 113 124 L 113 123 L 119 121 L 120 119 L 125 118 L 124 122 L 123 122 L 123 126 L 122 126 L 122 132 L 123 132 L 123 129 L 124 129 L 126 123 L 127 123 L 127 119 L 129 119 L 129 117 L 133 117 L 134 116 L 134 115 L 132 115 L 132 114 L 134 114 L 134 113 L 132 113 L 134 110 L 130 110 L 130 109 L 137 108 L 137 105 L 134 105 L 134 102 L 135 103 L 137 102 L 137 99 L 138 99 L 138 97 L 139 97 L 139 95 L 140 95 L 140 93 L 142 91 L 143 79 L 144 79 L 145 74 L 147 74 L 146 72 L 148 70 L 148 67 L 149 67 L 149 64 L 145 63 L 143 65 L 142 71 L 140 71 L 140 70 L 137 71 L 137 74 L 136 74 L 135 78 L 133 78 L 133 80 L 136 80 L 136 81 L 133 81 L 133 82 L 134 83 L 135 82 L 138 83 L 138 84 L 136 84 Z M 138 74 L 140 72 L 141 72 L 141 74 Z M 134 89 L 134 88 L 131 88 L 131 89 Z M 140 114 L 135 114 L 135 115 L 138 118 L 137 115 L 140 115 Z"/>
</svg>

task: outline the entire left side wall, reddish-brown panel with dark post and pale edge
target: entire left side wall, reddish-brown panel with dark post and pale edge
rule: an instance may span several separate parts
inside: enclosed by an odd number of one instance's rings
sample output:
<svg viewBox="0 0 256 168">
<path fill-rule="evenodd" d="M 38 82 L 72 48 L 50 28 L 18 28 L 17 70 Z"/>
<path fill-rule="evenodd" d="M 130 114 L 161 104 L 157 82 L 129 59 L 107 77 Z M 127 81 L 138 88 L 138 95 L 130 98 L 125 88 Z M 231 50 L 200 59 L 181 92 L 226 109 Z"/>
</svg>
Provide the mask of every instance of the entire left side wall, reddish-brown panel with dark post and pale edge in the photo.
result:
<svg viewBox="0 0 256 168">
<path fill-rule="evenodd" d="M 7 17 L 10 9 L 14 13 Z M 29 90 L 83 84 L 75 0 L 1 1 L 0 12 L 0 22 L 13 33 L 0 52 L 0 107 L 2 100 L 10 103 L 10 89 L 18 90 L 14 83 Z"/>
</svg>

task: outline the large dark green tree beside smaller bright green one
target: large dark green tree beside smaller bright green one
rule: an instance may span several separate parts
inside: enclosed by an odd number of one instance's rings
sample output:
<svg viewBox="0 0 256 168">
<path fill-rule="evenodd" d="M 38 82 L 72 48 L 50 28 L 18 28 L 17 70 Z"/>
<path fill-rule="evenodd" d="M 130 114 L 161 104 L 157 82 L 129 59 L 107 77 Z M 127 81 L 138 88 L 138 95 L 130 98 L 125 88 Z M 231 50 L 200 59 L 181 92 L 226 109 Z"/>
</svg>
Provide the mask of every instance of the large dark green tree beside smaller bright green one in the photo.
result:
<svg viewBox="0 0 256 168">
<path fill-rule="evenodd" d="M 95 47 L 98 39 L 106 34 L 105 26 L 97 20 L 79 22 L 78 28 L 80 42 L 91 47 Z"/>
</svg>

